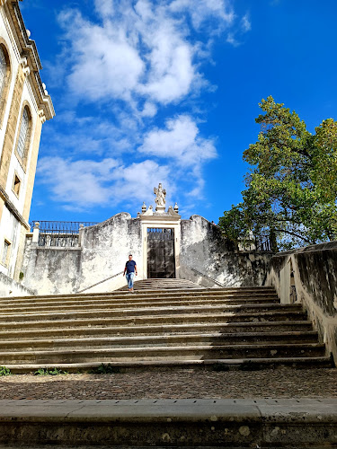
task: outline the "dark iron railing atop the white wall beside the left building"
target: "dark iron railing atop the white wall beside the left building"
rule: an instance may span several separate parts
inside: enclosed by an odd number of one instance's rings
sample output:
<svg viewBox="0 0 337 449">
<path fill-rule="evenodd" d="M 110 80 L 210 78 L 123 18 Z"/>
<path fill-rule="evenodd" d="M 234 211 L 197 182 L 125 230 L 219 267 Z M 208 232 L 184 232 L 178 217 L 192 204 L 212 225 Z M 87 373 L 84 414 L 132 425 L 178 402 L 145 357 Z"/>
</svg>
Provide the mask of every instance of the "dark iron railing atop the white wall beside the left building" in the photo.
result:
<svg viewBox="0 0 337 449">
<path fill-rule="evenodd" d="M 39 246 L 78 246 L 78 236 L 80 226 L 93 226 L 97 222 L 58 222 L 58 221 L 38 221 L 31 222 L 31 232 L 35 225 L 39 223 Z"/>
</svg>

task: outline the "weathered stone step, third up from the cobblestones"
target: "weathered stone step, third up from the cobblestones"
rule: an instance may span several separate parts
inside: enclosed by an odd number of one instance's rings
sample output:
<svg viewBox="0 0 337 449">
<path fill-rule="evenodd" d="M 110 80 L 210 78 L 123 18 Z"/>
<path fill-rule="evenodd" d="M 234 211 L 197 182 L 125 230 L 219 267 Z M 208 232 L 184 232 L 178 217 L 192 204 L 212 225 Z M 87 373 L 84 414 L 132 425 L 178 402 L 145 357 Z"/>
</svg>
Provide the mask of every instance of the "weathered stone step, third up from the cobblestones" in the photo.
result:
<svg viewBox="0 0 337 449">
<path fill-rule="evenodd" d="M 30 348 L 41 350 L 45 348 L 147 348 L 155 346 L 210 346 L 210 345 L 242 345 L 242 344 L 262 344 L 270 343 L 316 343 L 317 332 L 293 331 L 293 332 L 244 332 L 244 333 L 184 333 L 177 335 L 144 335 L 144 336 L 112 336 L 112 337 L 82 337 L 77 339 L 22 339 L 21 341 L 2 339 L 0 341 L 0 351 L 22 350 Z"/>
</svg>

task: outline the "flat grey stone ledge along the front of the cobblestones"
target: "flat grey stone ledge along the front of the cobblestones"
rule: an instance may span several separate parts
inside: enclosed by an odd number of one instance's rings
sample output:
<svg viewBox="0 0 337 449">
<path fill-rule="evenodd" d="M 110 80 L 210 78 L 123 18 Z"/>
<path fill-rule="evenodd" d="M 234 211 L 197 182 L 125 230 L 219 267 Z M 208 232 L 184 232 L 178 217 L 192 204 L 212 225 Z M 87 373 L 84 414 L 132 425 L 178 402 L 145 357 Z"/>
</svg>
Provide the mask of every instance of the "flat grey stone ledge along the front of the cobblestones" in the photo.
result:
<svg viewBox="0 0 337 449">
<path fill-rule="evenodd" d="M 289 422 L 337 424 L 332 399 L 1 400 L 4 421 Z M 336 436 L 337 438 L 337 436 Z"/>
</svg>

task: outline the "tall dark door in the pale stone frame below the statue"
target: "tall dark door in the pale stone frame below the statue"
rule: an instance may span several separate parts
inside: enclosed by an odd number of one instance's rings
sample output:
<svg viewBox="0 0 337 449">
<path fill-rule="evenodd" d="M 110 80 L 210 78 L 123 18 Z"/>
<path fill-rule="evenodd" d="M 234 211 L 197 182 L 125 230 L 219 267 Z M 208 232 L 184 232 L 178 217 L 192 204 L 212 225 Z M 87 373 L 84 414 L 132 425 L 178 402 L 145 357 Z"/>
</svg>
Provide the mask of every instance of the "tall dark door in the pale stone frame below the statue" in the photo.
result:
<svg viewBox="0 0 337 449">
<path fill-rule="evenodd" d="M 147 278 L 175 277 L 174 229 L 147 228 Z"/>
</svg>

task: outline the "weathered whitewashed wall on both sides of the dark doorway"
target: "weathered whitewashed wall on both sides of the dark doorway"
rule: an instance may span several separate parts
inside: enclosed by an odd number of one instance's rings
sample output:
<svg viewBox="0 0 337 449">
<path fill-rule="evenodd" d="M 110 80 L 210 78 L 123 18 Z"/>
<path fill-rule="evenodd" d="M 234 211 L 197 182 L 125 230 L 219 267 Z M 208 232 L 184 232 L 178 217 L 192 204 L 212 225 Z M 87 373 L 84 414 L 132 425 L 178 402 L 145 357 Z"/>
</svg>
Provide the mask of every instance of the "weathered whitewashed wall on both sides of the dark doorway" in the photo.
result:
<svg viewBox="0 0 337 449">
<path fill-rule="evenodd" d="M 158 220 L 149 226 L 160 227 Z M 270 253 L 235 251 L 219 228 L 201 216 L 182 220 L 180 235 L 179 277 L 209 287 L 262 285 Z M 22 267 L 24 285 L 42 295 L 109 292 L 126 285 L 121 272 L 129 253 L 137 262 L 137 278 L 146 272 L 142 223 L 127 213 L 80 230 L 78 245 L 39 247 L 30 239 Z"/>
</svg>

